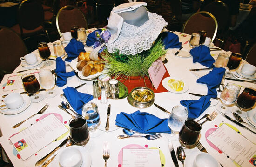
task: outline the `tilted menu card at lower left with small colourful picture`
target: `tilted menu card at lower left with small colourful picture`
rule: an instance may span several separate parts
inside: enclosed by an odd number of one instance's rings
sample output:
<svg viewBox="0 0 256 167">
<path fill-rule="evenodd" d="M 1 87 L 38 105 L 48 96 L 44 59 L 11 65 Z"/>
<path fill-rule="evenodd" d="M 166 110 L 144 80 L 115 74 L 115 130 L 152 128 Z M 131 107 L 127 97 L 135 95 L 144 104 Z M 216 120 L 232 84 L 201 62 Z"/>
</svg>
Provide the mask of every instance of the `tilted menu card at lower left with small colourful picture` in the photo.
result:
<svg viewBox="0 0 256 167">
<path fill-rule="evenodd" d="M 9 140 L 20 154 L 21 159 L 26 160 L 68 130 L 54 114 L 50 114 L 10 137 Z"/>
</svg>

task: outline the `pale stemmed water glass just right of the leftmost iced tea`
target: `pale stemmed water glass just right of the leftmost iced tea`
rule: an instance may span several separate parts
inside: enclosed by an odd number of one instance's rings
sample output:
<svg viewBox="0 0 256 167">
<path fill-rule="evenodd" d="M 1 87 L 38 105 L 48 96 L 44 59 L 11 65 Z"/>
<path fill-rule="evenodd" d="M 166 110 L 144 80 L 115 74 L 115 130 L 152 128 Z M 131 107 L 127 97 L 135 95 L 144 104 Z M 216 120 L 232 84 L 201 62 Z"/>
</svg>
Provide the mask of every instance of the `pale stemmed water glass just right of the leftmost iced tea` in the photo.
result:
<svg viewBox="0 0 256 167">
<path fill-rule="evenodd" d="M 51 70 L 43 69 L 38 74 L 41 87 L 47 90 L 45 97 L 53 98 L 54 96 L 56 96 L 56 91 L 52 90 L 55 86 L 55 80 Z"/>
</svg>

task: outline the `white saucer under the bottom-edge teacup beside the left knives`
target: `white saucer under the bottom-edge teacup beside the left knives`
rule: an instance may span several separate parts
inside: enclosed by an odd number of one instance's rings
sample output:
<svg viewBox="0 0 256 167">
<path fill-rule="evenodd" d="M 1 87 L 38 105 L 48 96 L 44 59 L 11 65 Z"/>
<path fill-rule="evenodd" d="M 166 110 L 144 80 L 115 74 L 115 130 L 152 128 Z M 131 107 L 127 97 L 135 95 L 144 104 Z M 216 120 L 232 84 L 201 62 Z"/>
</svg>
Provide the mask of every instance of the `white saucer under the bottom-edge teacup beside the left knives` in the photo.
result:
<svg viewBox="0 0 256 167">
<path fill-rule="evenodd" d="M 82 147 L 82 146 L 69 146 L 69 147 L 74 147 L 74 148 L 79 149 L 79 151 L 81 151 L 82 158 L 83 158 L 83 163 L 80 167 L 91 167 L 92 157 L 91 157 L 90 153 L 87 151 L 87 149 L 85 147 Z M 65 149 L 67 149 L 67 148 L 64 148 L 63 150 L 65 150 Z M 59 165 L 60 153 L 58 153 L 56 155 L 56 157 L 54 158 L 52 167 L 60 167 L 60 165 Z"/>
</svg>

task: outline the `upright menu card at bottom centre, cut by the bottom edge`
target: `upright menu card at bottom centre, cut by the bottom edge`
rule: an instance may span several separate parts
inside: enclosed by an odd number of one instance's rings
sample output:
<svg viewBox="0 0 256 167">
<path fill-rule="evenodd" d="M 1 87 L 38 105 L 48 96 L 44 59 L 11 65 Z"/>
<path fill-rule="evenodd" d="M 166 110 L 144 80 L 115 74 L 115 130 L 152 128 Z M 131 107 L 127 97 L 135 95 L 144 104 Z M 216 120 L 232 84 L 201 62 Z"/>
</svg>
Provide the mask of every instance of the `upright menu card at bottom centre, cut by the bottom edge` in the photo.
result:
<svg viewBox="0 0 256 167">
<path fill-rule="evenodd" d="M 159 149 L 123 148 L 122 167 L 161 167 Z"/>
</svg>

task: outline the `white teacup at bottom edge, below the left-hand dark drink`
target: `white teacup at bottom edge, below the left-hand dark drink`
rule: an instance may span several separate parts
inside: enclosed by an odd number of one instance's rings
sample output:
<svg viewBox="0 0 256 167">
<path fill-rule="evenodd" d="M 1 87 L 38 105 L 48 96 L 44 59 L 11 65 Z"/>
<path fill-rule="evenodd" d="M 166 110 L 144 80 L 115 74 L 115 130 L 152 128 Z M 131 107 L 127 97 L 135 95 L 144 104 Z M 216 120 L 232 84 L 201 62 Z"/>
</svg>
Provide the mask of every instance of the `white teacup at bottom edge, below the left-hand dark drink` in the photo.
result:
<svg viewBox="0 0 256 167">
<path fill-rule="evenodd" d="M 79 149 L 72 146 L 66 147 L 59 157 L 61 167 L 80 167 L 83 163 L 82 154 Z"/>
</svg>

